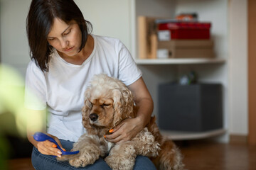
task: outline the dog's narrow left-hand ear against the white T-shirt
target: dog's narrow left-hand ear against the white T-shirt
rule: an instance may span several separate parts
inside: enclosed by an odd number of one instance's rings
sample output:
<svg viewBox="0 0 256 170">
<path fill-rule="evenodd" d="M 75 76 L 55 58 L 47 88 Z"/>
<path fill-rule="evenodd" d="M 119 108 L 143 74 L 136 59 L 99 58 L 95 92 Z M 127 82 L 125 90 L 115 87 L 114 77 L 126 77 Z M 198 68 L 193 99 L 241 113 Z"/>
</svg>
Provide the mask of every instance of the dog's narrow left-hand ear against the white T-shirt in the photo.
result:
<svg viewBox="0 0 256 170">
<path fill-rule="evenodd" d="M 87 89 L 85 91 L 85 105 L 82 107 L 82 125 L 84 125 L 85 128 L 90 128 L 89 123 L 89 114 L 90 110 L 92 109 L 92 103 L 89 101 L 90 98 L 90 89 Z"/>
</svg>

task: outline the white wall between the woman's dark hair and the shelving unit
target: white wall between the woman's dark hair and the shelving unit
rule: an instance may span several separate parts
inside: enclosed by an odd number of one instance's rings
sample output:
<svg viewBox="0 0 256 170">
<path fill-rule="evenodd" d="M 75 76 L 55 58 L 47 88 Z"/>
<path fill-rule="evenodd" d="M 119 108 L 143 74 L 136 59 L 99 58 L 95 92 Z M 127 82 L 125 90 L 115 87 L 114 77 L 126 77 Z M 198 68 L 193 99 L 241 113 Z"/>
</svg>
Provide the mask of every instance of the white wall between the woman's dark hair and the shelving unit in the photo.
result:
<svg viewBox="0 0 256 170">
<path fill-rule="evenodd" d="M 84 18 L 92 23 L 93 33 L 119 38 L 129 50 L 131 40 L 130 0 L 75 0 Z"/>
</svg>

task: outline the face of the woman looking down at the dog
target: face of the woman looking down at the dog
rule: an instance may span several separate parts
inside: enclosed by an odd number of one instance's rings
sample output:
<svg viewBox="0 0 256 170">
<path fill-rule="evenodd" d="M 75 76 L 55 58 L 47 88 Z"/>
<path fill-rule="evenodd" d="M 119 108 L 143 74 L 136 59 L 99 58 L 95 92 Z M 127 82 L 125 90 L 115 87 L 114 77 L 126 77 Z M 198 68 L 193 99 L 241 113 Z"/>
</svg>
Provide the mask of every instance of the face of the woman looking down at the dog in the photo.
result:
<svg viewBox="0 0 256 170">
<path fill-rule="evenodd" d="M 67 24 L 59 18 L 55 18 L 47 40 L 51 46 L 60 52 L 62 57 L 71 57 L 80 51 L 82 33 L 75 21 Z"/>
</svg>

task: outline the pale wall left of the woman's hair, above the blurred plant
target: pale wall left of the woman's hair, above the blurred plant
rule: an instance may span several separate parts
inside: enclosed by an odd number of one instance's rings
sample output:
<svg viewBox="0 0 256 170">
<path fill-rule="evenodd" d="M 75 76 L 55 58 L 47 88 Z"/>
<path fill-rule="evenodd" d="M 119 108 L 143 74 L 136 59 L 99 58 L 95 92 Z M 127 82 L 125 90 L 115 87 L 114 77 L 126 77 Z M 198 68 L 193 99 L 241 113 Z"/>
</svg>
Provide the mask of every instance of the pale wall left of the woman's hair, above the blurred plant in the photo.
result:
<svg viewBox="0 0 256 170">
<path fill-rule="evenodd" d="M 26 15 L 30 0 L 0 0 L 1 62 L 25 76 L 30 60 L 26 38 Z"/>
</svg>

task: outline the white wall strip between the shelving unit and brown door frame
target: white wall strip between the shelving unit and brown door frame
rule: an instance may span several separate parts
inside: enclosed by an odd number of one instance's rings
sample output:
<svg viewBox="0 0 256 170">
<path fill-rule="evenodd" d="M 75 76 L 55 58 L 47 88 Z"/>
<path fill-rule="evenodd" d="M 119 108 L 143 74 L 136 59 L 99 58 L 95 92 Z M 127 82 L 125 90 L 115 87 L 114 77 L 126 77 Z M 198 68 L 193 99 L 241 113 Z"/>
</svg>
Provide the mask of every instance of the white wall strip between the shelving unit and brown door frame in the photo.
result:
<svg viewBox="0 0 256 170">
<path fill-rule="evenodd" d="M 230 133 L 247 135 L 247 1 L 229 3 Z"/>
</svg>

